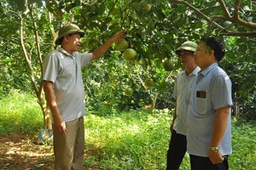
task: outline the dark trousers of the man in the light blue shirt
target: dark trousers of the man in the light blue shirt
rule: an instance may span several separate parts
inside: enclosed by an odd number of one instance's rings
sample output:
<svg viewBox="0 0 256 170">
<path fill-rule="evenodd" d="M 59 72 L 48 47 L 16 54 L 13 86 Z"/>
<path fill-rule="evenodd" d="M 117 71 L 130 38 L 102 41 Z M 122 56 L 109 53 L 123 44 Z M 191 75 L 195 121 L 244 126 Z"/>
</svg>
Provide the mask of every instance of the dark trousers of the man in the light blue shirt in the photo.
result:
<svg viewBox="0 0 256 170">
<path fill-rule="evenodd" d="M 218 164 L 212 164 L 209 157 L 189 155 L 191 170 L 228 170 L 228 156 L 224 156 L 224 161 Z"/>
</svg>

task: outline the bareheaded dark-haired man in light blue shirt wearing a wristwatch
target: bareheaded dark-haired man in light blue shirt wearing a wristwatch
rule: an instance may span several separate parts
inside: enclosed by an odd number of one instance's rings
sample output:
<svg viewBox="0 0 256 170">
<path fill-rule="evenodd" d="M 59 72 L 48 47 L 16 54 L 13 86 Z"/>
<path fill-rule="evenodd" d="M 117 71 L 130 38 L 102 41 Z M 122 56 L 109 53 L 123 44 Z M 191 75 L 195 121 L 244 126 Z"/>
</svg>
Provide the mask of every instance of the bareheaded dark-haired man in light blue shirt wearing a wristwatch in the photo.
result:
<svg viewBox="0 0 256 170">
<path fill-rule="evenodd" d="M 208 37 L 198 44 L 195 64 L 201 71 L 190 89 L 187 151 L 191 170 L 227 170 L 231 154 L 231 81 L 218 62 L 224 42 Z"/>
</svg>

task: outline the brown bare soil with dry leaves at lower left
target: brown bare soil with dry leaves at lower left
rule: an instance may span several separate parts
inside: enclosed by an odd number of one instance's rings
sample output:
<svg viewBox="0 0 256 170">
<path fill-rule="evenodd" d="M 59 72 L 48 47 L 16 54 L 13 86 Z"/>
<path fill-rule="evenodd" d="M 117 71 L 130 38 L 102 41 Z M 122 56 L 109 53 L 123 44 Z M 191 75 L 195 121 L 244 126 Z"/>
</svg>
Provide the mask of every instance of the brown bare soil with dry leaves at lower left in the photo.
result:
<svg viewBox="0 0 256 170">
<path fill-rule="evenodd" d="M 53 169 L 54 154 L 51 144 L 36 144 L 25 134 L 0 136 L 0 170 Z M 98 170 L 84 167 L 84 170 Z"/>
</svg>

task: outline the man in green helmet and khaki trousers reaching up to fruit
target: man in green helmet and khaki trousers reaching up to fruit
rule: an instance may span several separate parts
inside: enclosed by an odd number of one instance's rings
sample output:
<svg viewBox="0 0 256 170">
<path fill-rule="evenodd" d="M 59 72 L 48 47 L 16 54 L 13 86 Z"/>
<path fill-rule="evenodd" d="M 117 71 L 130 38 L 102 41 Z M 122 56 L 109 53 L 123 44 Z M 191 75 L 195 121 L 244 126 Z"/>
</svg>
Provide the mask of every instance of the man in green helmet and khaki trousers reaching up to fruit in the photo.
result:
<svg viewBox="0 0 256 170">
<path fill-rule="evenodd" d="M 82 170 L 85 101 L 81 68 L 125 35 L 119 31 L 94 52 L 83 54 L 78 52 L 81 37 L 84 31 L 79 26 L 61 27 L 55 41 L 61 48 L 44 59 L 44 93 L 54 123 L 55 170 Z"/>
</svg>

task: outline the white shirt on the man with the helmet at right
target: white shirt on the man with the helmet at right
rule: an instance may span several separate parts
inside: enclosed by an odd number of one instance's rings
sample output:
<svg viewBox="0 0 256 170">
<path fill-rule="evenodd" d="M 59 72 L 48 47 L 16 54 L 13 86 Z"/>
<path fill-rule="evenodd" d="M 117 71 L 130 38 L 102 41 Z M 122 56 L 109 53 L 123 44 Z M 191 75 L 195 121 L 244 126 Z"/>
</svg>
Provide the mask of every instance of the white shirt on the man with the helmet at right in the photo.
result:
<svg viewBox="0 0 256 170">
<path fill-rule="evenodd" d="M 179 133 L 186 135 L 187 134 L 187 111 L 189 106 L 189 88 L 191 82 L 197 76 L 197 72 L 200 71 L 200 68 L 195 67 L 188 76 L 185 71 L 181 71 L 176 78 L 175 87 L 174 87 L 174 96 L 177 99 L 176 103 L 176 119 L 173 124 L 173 129 Z"/>
</svg>

